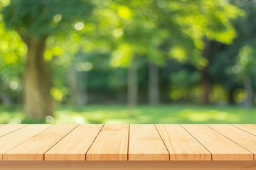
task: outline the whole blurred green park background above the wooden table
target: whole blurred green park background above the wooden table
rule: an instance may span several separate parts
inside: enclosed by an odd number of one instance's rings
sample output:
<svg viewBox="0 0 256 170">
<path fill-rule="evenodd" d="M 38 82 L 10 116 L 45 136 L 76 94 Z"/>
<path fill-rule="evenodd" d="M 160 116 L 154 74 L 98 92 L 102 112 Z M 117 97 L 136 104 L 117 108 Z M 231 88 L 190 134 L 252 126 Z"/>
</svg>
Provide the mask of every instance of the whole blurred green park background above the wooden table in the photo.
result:
<svg viewBox="0 0 256 170">
<path fill-rule="evenodd" d="M 255 0 L 0 0 L 0 123 L 255 123 Z"/>
</svg>

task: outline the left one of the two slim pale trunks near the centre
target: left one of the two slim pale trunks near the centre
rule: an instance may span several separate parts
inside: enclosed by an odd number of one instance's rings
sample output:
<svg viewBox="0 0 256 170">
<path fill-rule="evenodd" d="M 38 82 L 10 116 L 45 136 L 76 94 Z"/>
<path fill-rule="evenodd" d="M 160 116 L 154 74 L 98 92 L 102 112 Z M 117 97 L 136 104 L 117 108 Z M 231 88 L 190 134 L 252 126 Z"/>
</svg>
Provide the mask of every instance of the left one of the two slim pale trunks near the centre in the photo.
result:
<svg viewBox="0 0 256 170">
<path fill-rule="evenodd" d="M 137 64 L 133 60 L 128 68 L 128 106 L 134 108 L 137 105 L 138 94 L 138 77 L 137 77 Z"/>
</svg>

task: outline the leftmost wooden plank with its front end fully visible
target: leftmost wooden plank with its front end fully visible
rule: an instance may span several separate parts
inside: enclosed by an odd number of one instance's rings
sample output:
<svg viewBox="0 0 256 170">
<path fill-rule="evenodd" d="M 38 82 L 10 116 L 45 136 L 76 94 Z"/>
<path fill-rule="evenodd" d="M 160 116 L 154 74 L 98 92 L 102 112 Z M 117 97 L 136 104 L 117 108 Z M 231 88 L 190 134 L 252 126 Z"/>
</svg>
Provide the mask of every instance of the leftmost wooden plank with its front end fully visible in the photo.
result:
<svg viewBox="0 0 256 170">
<path fill-rule="evenodd" d="M 78 125 L 53 125 L 3 154 L 3 160 L 43 160 L 43 154 Z"/>
</svg>

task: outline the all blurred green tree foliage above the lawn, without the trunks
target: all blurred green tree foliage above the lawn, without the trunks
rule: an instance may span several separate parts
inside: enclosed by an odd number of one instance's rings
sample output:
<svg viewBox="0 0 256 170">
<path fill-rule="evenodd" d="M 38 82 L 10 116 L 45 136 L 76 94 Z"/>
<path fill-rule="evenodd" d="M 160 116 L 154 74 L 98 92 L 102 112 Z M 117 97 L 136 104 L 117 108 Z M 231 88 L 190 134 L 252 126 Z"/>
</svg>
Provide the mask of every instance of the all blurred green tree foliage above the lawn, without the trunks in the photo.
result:
<svg viewBox="0 0 256 170">
<path fill-rule="evenodd" d="M 160 93 L 168 96 L 164 102 L 183 97 L 195 102 L 200 91 L 196 70 L 205 67 L 213 89 L 221 86 L 213 96 L 223 89 L 241 89 L 237 77 L 255 76 L 256 34 L 255 2 L 242 3 L 0 0 L 0 93 L 15 94 L 10 98 L 17 100 L 23 92 L 27 47 L 22 38 L 27 36 L 48 36 L 44 59 L 53 69 L 51 94 L 60 103 L 73 98 L 70 70 L 78 89 L 87 86 L 89 102 L 125 103 L 127 67 L 134 57 L 140 103 L 147 102 L 148 62 L 161 67 Z M 213 43 L 214 53 L 207 59 L 202 57 L 206 40 Z M 235 73 L 237 68 L 240 73 Z M 182 95 L 190 93 L 192 97 Z"/>
</svg>

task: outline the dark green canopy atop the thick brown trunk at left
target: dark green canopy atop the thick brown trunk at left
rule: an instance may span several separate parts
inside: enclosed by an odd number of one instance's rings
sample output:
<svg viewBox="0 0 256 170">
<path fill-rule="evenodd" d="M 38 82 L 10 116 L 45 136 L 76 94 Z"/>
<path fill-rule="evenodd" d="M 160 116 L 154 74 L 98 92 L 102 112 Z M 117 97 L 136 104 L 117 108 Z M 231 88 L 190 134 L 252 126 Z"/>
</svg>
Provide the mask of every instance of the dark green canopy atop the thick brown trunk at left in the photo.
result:
<svg viewBox="0 0 256 170">
<path fill-rule="evenodd" d="M 23 37 L 41 38 L 61 31 L 88 18 L 94 5 L 84 0 L 14 0 L 1 11 L 6 27 Z M 79 24 L 75 25 L 78 26 Z"/>
</svg>

